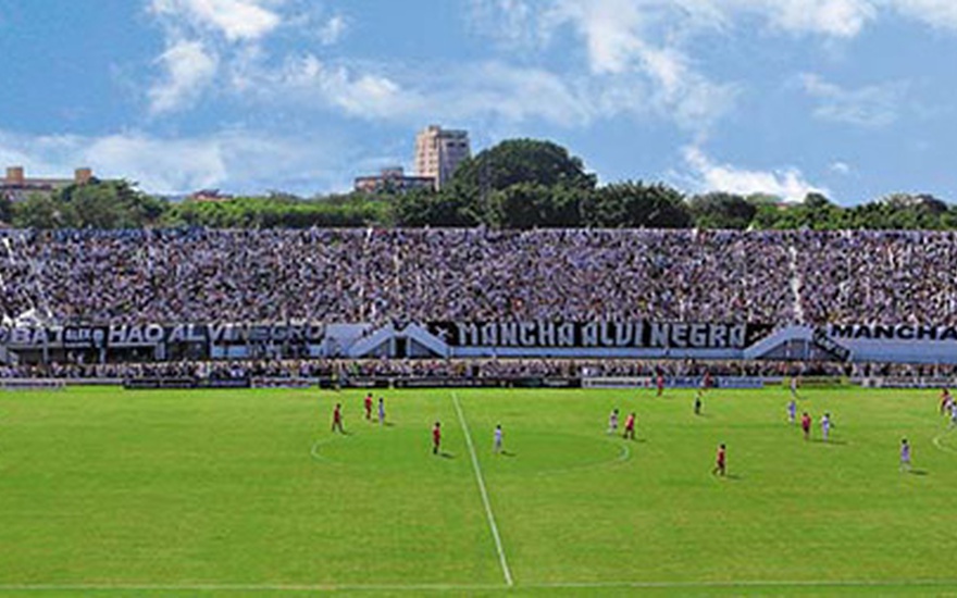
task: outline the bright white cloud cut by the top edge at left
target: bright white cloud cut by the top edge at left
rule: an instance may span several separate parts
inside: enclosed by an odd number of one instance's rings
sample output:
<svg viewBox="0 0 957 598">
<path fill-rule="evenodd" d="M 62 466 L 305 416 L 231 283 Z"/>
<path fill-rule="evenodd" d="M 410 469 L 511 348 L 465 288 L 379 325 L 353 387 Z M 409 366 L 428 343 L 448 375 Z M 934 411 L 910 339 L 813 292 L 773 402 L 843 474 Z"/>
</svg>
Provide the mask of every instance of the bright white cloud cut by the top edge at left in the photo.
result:
<svg viewBox="0 0 957 598">
<path fill-rule="evenodd" d="M 229 41 L 261 39 L 282 18 L 269 0 L 151 0 L 150 11 L 176 23 L 222 34 Z"/>
</svg>

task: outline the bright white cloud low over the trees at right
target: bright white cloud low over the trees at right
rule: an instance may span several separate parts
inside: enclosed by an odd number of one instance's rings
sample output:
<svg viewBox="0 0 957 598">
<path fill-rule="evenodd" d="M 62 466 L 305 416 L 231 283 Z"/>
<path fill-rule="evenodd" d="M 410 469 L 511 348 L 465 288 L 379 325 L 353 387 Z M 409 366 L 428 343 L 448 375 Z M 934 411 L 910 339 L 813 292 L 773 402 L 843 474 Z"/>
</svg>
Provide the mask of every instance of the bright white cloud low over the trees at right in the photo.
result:
<svg viewBox="0 0 957 598">
<path fill-rule="evenodd" d="M 828 195 L 828 190 L 809 183 L 794 167 L 774 171 L 749 171 L 731 164 L 719 164 L 697 147 L 684 149 L 684 160 L 692 171 L 692 184 L 700 191 L 728 191 L 748 196 L 769 194 L 787 201 L 801 201 L 809 192 Z"/>
</svg>

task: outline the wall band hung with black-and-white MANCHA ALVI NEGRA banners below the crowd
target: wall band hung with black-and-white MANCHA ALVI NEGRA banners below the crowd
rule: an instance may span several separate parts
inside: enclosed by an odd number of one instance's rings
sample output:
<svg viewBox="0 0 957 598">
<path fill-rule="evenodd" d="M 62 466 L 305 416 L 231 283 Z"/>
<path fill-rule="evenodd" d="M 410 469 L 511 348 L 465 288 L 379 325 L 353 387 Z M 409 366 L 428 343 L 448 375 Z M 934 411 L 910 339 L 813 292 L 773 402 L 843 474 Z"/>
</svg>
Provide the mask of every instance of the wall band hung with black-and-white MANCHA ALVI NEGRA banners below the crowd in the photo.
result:
<svg viewBox="0 0 957 598">
<path fill-rule="evenodd" d="M 701 322 L 428 322 L 0 326 L 9 362 L 194 354 L 262 358 L 592 358 L 957 364 L 957 326 Z M 2 354 L 2 351 L 0 351 Z M 141 358 L 139 358 L 141 359 Z"/>
</svg>

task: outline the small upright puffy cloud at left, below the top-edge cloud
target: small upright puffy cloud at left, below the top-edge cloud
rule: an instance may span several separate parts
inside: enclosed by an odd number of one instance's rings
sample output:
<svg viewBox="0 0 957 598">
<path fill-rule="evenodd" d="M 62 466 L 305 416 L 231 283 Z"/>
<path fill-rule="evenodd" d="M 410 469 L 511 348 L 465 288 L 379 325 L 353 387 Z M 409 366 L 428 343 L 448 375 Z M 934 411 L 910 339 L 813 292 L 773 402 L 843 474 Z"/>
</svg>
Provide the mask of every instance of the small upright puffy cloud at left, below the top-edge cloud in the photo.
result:
<svg viewBox="0 0 957 598">
<path fill-rule="evenodd" d="M 199 41 L 176 41 L 157 62 L 165 75 L 150 87 L 150 112 L 159 114 L 194 103 L 215 77 L 219 59 Z"/>
</svg>

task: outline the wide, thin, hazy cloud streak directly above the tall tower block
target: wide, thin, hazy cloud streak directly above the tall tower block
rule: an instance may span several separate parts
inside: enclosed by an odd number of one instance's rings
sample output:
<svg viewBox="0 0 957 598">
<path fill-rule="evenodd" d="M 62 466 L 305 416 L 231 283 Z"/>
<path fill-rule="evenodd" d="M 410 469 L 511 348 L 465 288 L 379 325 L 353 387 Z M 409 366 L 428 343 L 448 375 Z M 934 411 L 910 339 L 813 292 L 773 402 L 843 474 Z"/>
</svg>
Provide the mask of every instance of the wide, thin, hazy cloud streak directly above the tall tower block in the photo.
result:
<svg viewBox="0 0 957 598">
<path fill-rule="evenodd" d="M 401 70 L 396 71 L 400 77 Z M 465 63 L 420 74 L 411 85 L 361 66 L 327 63 L 314 54 L 287 59 L 282 68 L 245 73 L 261 100 L 334 107 L 359 119 L 423 122 L 545 121 L 581 126 L 625 110 L 643 110 L 641 85 L 612 86 L 562 78 L 549 71 L 501 62 Z M 405 78 L 405 77 L 402 77 Z"/>
</svg>

